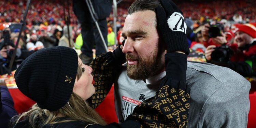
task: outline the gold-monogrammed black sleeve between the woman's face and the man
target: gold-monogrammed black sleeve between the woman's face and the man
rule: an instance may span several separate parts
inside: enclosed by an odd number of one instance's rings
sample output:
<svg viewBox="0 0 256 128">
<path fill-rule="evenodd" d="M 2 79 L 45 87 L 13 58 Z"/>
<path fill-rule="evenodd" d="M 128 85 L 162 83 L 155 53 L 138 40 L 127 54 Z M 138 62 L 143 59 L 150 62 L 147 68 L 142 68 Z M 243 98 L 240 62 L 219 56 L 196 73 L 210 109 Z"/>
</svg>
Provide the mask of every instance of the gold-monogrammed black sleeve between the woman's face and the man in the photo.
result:
<svg viewBox="0 0 256 128">
<path fill-rule="evenodd" d="M 90 67 L 93 68 L 91 73 L 94 76 L 95 94 L 87 101 L 95 109 L 109 93 L 114 79 L 122 64 L 125 62 L 125 54 L 118 47 L 112 52 L 102 54 L 91 62 Z"/>
</svg>

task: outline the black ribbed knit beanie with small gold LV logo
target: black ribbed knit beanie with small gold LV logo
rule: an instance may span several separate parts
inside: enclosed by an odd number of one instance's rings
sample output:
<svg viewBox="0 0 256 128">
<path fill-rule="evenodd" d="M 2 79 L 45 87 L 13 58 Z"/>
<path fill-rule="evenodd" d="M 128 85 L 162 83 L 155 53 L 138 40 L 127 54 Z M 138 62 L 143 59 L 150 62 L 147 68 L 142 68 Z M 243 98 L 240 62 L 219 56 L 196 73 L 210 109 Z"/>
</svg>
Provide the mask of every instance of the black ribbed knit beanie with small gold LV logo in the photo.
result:
<svg viewBox="0 0 256 128">
<path fill-rule="evenodd" d="M 25 59 L 14 77 L 19 90 L 41 109 L 56 111 L 70 99 L 77 64 L 77 53 L 72 48 L 43 48 Z"/>
</svg>

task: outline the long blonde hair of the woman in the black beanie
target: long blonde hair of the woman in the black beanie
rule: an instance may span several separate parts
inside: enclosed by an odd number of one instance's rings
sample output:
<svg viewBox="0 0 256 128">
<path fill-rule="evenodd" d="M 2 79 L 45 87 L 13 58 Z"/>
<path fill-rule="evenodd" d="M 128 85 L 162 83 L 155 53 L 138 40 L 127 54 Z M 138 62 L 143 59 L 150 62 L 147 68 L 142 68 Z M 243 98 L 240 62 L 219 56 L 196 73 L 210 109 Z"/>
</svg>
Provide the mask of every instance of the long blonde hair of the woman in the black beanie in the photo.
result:
<svg viewBox="0 0 256 128">
<path fill-rule="evenodd" d="M 82 75 L 82 68 L 78 64 L 77 68 L 77 80 Z M 72 108 L 67 104 L 65 104 L 62 108 L 56 111 L 49 111 L 46 109 L 41 109 L 38 107 L 37 103 L 35 103 L 32 108 L 22 114 L 14 116 L 12 118 L 12 125 L 17 124 L 21 119 L 28 118 L 29 125 L 32 128 L 42 127 L 46 124 L 56 124 L 62 122 L 71 122 L 71 121 L 80 121 L 91 124 L 100 124 L 106 125 L 104 120 L 100 117 L 100 115 L 91 108 L 89 103 L 83 100 L 79 95 L 72 92 L 71 97 L 69 99 L 69 104 Z M 59 117 L 69 117 L 68 119 L 56 121 Z"/>
</svg>

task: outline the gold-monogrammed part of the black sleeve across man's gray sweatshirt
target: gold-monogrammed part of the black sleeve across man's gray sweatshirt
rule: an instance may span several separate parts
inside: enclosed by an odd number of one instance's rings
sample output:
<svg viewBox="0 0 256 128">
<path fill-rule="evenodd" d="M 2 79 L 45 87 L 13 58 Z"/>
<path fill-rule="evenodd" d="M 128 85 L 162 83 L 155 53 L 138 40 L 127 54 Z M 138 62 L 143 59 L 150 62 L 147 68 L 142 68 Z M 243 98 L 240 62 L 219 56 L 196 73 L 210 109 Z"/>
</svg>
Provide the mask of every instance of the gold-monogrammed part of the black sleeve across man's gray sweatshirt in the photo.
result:
<svg viewBox="0 0 256 128">
<path fill-rule="evenodd" d="M 141 128 L 186 128 L 190 96 L 187 90 L 177 88 L 186 87 L 185 83 L 172 85 L 179 82 L 171 81 L 167 81 L 170 86 L 162 86 L 155 97 L 136 106 L 127 120 L 138 120 L 142 123 Z"/>
</svg>

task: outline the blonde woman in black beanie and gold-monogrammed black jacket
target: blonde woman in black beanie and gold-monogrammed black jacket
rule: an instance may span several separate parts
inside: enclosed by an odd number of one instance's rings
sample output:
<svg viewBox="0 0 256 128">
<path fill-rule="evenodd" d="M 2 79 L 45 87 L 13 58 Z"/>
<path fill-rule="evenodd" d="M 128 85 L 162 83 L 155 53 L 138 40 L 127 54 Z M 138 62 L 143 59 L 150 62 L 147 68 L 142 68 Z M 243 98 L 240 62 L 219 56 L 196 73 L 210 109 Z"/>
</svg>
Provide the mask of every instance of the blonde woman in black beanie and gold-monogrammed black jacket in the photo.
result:
<svg viewBox="0 0 256 128">
<path fill-rule="evenodd" d="M 14 128 L 185 127 L 187 118 L 182 116 L 188 116 L 189 108 L 185 106 L 189 100 L 188 90 L 183 81 L 170 79 L 163 80 L 156 96 L 138 105 L 126 122 L 106 125 L 93 108 L 104 99 L 113 83 L 113 75 L 121 63 L 117 58 L 124 57 L 119 52 L 122 52 L 120 47 L 113 53 L 99 56 L 91 64 L 92 68 L 84 65 L 75 50 L 69 47 L 43 48 L 29 56 L 14 76 L 19 90 L 37 103 L 31 110 L 14 117 Z M 177 67 L 186 68 L 186 55 L 182 56 L 184 60 L 177 60 L 176 57 L 169 59 L 182 62 L 185 65 Z M 186 73 L 186 70 L 183 71 L 180 73 Z M 163 96 L 169 98 L 165 104 L 162 104 Z M 178 101 L 182 105 L 176 105 Z M 171 108 L 168 111 L 159 109 L 157 105 L 173 105 L 179 112 Z"/>
</svg>

